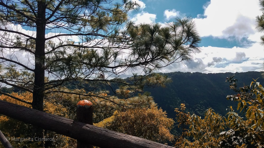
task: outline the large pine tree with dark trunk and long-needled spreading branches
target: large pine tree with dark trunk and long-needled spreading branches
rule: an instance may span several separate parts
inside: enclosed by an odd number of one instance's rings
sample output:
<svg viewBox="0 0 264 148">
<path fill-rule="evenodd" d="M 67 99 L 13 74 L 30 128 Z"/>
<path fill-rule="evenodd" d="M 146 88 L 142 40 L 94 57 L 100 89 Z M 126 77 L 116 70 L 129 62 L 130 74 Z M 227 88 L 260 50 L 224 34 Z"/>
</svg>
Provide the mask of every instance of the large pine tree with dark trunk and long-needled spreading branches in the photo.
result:
<svg viewBox="0 0 264 148">
<path fill-rule="evenodd" d="M 110 82 L 133 92 L 162 85 L 166 79 L 148 78 L 191 60 L 201 39 L 191 18 L 135 25 L 128 13 L 138 7 L 129 0 L 0 0 L 0 82 L 32 93 L 27 103 L 41 111 L 45 94 L 76 81 L 92 86 L 88 92 Z M 141 75 L 129 81 L 118 77 L 136 70 Z"/>
</svg>

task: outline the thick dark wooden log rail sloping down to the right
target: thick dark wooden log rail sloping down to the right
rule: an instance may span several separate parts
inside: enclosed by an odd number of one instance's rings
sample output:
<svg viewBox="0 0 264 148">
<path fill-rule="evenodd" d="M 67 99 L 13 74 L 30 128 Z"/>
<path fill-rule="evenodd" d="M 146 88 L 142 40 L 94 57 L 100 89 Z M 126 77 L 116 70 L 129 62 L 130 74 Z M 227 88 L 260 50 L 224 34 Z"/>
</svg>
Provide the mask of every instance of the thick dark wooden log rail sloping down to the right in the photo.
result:
<svg viewBox="0 0 264 148">
<path fill-rule="evenodd" d="M 0 114 L 99 147 L 171 147 L 0 100 Z M 172 147 L 171 147 L 172 148 Z"/>
</svg>

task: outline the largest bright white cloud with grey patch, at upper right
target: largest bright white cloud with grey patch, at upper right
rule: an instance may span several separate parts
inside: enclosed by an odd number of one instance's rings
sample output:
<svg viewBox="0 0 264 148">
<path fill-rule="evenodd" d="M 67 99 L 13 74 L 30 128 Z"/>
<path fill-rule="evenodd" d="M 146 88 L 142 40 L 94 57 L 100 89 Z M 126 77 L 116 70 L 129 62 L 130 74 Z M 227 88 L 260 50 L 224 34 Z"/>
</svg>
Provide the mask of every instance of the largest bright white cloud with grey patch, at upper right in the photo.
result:
<svg viewBox="0 0 264 148">
<path fill-rule="evenodd" d="M 201 18 L 195 18 L 197 30 L 202 37 L 241 38 L 254 34 L 255 17 L 260 15 L 258 0 L 211 0 L 204 7 Z"/>
</svg>

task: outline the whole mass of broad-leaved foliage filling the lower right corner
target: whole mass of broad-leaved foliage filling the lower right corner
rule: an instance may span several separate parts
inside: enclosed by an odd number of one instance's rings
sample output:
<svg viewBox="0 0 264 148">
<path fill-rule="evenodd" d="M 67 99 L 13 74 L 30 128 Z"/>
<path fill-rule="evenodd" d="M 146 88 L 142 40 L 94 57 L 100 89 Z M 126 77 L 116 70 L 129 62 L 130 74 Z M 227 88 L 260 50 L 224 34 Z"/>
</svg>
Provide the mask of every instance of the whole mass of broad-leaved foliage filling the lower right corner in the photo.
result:
<svg viewBox="0 0 264 148">
<path fill-rule="evenodd" d="M 183 132 L 182 136 L 177 137 L 176 146 L 178 147 L 264 147 L 264 123 L 263 123 L 263 99 L 264 88 L 253 79 L 249 86 L 244 85 L 237 89 L 234 75 L 227 78 L 229 86 L 237 94 L 228 95 L 227 99 L 237 102 L 238 111 L 243 111 L 245 117 L 235 113 L 232 106 L 229 107 L 227 118 L 216 114 L 209 108 L 205 112 L 205 118 L 200 116 L 183 113 L 176 109 L 177 121 L 179 125 L 189 125 L 189 129 Z M 182 115 L 189 117 L 182 120 Z M 186 118 L 187 119 L 187 118 Z M 185 137 L 191 137 L 187 140 Z"/>
</svg>

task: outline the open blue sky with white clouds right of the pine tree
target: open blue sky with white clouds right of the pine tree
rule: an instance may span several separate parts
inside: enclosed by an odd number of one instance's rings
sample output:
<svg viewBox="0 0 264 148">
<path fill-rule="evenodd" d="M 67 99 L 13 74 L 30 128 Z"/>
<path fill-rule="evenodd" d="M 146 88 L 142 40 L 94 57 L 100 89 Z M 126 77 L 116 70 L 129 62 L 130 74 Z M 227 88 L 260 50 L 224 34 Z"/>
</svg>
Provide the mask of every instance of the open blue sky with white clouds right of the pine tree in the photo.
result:
<svg viewBox="0 0 264 148">
<path fill-rule="evenodd" d="M 258 0 L 134 0 L 140 9 L 130 13 L 136 24 L 173 21 L 192 17 L 202 39 L 202 52 L 190 63 L 174 63 L 159 70 L 169 72 L 247 72 L 262 71 L 264 47 L 255 29 L 261 15 Z"/>
</svg>

